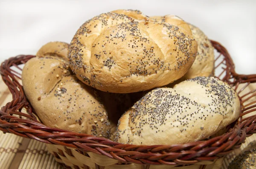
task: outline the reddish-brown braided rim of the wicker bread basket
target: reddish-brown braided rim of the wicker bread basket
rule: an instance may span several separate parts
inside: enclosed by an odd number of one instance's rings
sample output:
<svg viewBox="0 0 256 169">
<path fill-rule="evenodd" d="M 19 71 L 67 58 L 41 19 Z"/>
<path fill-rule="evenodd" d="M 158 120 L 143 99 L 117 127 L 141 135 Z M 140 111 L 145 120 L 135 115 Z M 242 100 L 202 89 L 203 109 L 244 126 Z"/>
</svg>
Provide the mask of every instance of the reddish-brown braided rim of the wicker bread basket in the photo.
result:
<svg viewBox="0 0 256 169">
<path fill-rule="evenodd" d="M 222 54 L 227 65 L 227 68 L 223 70 L 226 75 L 222 80 L 231 86 L 256 82 L 256 74 L 243 75 L 236 73 L 235 65 L 227 49 L 216 41 L 212 40 L 211 42 L 220 53 L 217 59 Z M 3 132 L 13 133 L 47 144 L 71 147 L 79 152 L 94 152 L 125 163 L 153 165 L 186 165 L 200 161 L 213 161 L 227 155 L 233 149 L 239 148 L 246 137 L 256 132 L 256 115 L 236 121 L 234 127 L 224 135 L 206 141 L 174 145 L 120 144 L 106 138 L 47 127 L 37 121 L 35 115 L 32 114 L 34 112 L 33 108 L 24 94 L 23 87 L 17 80 L 20 79 L 19 73 L 10 69 L 11 66 L 15 66 L 22 70 L 18 65 L 24 64 L 32 57 L 34 56 L 19 55 L 7 59 L 0 66 L 3 81 L 9 87 L 13 96 L 13 100 L 0 110 L 0 130 Z M 21 113 L 22 108 L 26 108 L 29 115 Z M 28 120 L 13 115 L 26 117 Z"/>
</svg>

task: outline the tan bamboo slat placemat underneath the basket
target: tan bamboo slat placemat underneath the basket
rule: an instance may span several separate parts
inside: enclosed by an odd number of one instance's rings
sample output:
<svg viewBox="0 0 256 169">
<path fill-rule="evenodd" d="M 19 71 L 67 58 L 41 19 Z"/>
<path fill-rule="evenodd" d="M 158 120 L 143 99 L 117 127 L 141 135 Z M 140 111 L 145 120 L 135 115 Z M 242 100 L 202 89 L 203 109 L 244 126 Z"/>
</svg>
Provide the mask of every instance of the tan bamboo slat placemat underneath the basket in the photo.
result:
<svg viewBox="0 0 256 169">
<path fill-rule="evenodd" d="M 256 84 L 250 84 L 246 90 L 256 89 Z M 246 92 L 246 91 L 243 91 Z M 253 98 L 256 100 L 256 98 Z M 8 87 L 0 79 L 0 107 L 12 101 Z M 256 141 L 256 135 L 246 139 L 240 149 L 224 158 L 221 169 L 227 169 L 228 164 L 236 155 L 251 142 Z M 0 131 L 0 169 L 61 169 L 54 157 L 47 151 L 46 144 L 22 138 L 13 134 L 3 134 Z"/>
</svg>

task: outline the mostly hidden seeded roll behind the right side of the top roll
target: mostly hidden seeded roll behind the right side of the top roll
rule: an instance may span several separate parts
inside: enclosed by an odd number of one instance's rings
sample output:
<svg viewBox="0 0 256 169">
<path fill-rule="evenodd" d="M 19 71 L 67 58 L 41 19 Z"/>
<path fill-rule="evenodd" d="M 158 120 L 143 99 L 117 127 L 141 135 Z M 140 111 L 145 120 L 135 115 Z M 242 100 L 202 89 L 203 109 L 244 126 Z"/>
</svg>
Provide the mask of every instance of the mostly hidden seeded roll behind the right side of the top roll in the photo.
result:
<svg viewBox="0 0 256 169">
<path fill-rule="evenodd" d="M 166 15 L 163 17 L 150 17 L 157 22 L 172 23 L 173 25 L 181 26 L 186 31 L 190 31 L 192 36 L 198 43 L 198 52 L 195 62 L 189 71 L 179 80 L 179 82 L 192 79 L 197 76 L 213 76 L 214 75 L 214 48 L 208 37 L 194 25 L 186 23 L 182 19 L 174 15 Z M 168 86 L 171 87 L 171 86 Z"/>
</svg>

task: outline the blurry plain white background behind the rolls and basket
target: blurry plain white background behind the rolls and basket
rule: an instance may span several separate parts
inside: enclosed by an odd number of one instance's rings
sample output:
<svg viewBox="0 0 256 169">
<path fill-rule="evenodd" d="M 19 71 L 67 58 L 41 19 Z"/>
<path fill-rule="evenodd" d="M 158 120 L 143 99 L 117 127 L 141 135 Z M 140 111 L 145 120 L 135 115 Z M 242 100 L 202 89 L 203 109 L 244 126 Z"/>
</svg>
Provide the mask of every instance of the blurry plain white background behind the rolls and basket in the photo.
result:
<svg viewBox="0 0 256 169">
<path fill-rule="evenodd" d="M 238 73 L 256 73 L 256 0 L 0 0 L 0 62 L 50 41 L 69 43 L 86 20 L 116 9 L 175 14 L 221 42 Z"/>
</svg>

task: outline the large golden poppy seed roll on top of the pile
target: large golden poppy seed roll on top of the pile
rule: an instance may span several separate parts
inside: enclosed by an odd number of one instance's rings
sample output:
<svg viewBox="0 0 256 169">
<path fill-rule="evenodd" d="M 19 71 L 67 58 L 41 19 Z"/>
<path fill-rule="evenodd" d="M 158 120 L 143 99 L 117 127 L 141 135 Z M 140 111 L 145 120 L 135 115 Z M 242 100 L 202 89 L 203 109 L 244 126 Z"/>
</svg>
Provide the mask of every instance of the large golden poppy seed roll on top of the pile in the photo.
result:
<svg viewBox="0 0 256 169">
<path fill-rule="evenodd" d="M 106 13 L 85 22 L 69 50 L 70 67 L 87 85 L 111 93 L 133 93 L 182 77 L 197 42 L 181 27 Z"/>
</svg>

